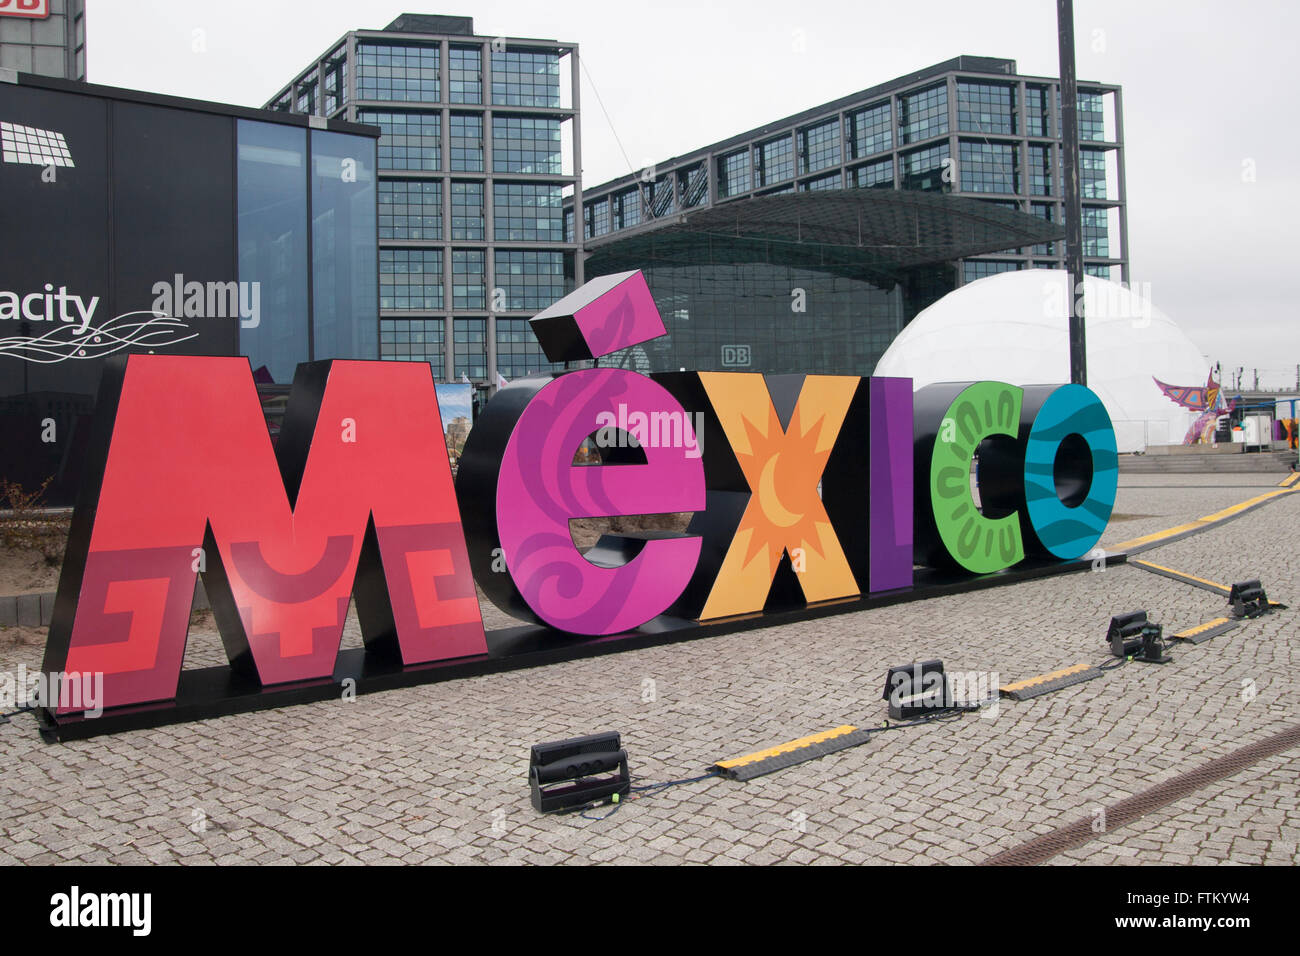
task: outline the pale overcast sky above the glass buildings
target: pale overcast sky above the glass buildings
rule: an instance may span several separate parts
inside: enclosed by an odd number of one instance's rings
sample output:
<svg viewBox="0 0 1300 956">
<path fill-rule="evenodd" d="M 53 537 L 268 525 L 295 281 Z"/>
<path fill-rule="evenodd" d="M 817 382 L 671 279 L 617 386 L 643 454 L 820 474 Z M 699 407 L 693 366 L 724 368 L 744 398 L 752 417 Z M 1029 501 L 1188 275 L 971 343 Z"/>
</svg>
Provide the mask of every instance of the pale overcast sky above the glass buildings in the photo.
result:
<svg viewBox="0 0 1300 956">
<path fill-rule="evenodd" d="M 348 30 L 403 12 L 473 17 L 482 35 L 575 42 L 590 74 L 582 177 L 593 185 L 629 172 L 601 101 L 640 168 L 961 53 L 1058 73 L 1053 0 L 87 7 L 91 82 L 248 107 Z M 1075 33 L 1079 77 L 1124 88 L 1132 280 L 1149 284 L 1157 308 L 1228 381 L 1244 365 L 1247 385 L 1258 368 L 1261 385 L 1295 386 L 1300 4 L 1075 0 Z"/>
</svg>

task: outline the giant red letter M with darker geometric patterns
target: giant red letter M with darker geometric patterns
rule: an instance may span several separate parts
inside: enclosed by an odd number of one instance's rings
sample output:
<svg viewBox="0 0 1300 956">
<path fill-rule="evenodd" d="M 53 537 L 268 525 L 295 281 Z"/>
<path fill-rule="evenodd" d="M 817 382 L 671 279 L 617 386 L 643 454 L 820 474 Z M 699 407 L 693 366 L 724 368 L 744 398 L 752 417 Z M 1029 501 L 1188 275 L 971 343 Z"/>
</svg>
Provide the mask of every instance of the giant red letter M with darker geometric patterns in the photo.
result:
<svg viewBox="0 0 1300 956">
<path fill-rule="evenodd" d="M 329 678 L 348 597 L 368 652 L 486 652 L 421 363 L 299 365 L 272 449 L 248 360 L 133 355 L 100 388 L 46 672 L 104 706 L 176 696 L 202 570 L 233 667 Z"/>
</svg>

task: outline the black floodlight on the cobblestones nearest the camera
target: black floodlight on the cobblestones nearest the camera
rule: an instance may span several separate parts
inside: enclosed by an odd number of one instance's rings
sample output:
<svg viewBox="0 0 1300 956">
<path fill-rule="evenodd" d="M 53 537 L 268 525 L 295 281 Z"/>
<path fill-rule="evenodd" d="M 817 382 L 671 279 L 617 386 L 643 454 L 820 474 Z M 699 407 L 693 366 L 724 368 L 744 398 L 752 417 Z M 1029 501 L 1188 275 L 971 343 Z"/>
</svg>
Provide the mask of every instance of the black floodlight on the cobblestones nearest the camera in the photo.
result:
<svg viewBox="0 0 1300 956">
<path fill-rule="evenodd" d="M 632 792 L 628 752 L 612 731 L 533 744 L 528 783 L 538 813 L 612 803 Z"/>
</svg>

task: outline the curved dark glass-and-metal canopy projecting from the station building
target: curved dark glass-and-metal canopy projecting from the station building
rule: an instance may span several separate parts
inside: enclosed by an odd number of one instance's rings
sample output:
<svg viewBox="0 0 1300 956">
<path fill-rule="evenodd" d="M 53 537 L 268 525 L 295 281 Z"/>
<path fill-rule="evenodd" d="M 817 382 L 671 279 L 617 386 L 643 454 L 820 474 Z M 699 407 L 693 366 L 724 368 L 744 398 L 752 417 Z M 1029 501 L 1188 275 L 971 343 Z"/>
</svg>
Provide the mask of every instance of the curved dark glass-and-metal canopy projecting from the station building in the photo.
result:
<svg viewBox="0 0 1300 956">
<path fill-rule="evenodd" d="M 588 239 L 586 247 L 601 256 L 619 256 L 623 243 L 630 252 L 632 246 L 651 237 L 659 241 L 673 235 L 829 246 L 841 256 L 853 250 L 863 265 L 897 272 L 1054 242 L 1065 235 L 1065 228 L 966 196 L 840 189 L 710 206 Z"/>
</svg>

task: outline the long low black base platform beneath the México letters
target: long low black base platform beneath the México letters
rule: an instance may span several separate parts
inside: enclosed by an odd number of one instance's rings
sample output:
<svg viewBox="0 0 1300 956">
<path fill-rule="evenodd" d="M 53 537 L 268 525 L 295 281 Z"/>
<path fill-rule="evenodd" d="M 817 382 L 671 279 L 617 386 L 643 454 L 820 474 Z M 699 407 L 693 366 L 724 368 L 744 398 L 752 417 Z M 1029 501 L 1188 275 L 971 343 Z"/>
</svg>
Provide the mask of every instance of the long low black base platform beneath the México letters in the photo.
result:
<svg viewBox="0 0 1300 956">
<path fill-rule="evenodd" d="M 1106 563 L 1126 561 L 1124 554 L 1108 554 Z M 47 741 L 84 740 L 101 734 L 120 734 L 127 730 L 162 727 L 186 721 L 204 721 L 213 717 L 242 714 L 252 710 L 341 700 L 344 689 L 358 695 L 393 691 L 439 680 L 478 676 L 498 671 L 537 667 L 598 654 L 637 650 L 659 644 L 712 637 L 715 635 L 750 631 L 762 627 L 793 624 L 833 614 L 871 610 L 910 601 L 924 601 L 946 594 L 983 591 L 1008 584 L 1019 584 L 1037 578 L 1087 571 L 1091 558 L 1063 562 L 1035 562 L 1028 559 L 1014 568 L 976 578 L 957 572 L 932 570 L 916 571 L 910 588 L 889 591 L 870 597 L 844 598 L 818 605 L 767 610 L 736 618 L 723 618 L 701 623 L 667 615 L 647 622 L 636 631 L 606 637 L 566 635 L 551 628 L 520 626 L 488 632 L 488 653 L 455 661 L 438 661 L 402 666 L 396 662 L 377 661 L 361 648 L 341 650 L 334 676 L 322 680 L 304 680 L 292 684 L 263 687 L 256 680 L 233 671 L 229 666 L 202 667 L 181 672 L 181 682 L 173 700 L 139 706 L 113 708 L 99 717 L 81 714 L 58 715 L 48 709 L 36 711 L 40 735 Z M 355 682 L 351 685 L 346 682 Z"/>
</svg>

